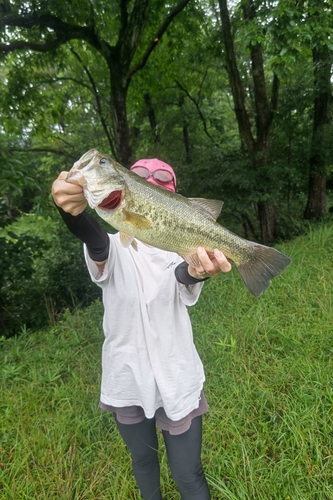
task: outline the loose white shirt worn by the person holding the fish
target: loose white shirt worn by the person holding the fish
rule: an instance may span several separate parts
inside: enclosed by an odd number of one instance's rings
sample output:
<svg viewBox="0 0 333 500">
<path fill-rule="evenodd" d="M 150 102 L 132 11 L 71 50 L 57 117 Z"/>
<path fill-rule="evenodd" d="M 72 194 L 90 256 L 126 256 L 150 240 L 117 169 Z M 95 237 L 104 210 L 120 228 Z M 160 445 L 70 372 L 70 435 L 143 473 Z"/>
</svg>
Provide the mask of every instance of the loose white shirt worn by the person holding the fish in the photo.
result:
<svg viewBox="0 0 333 500">
<path fill-rule="evenodd" d="M 141 406 L 147 418 L 163 407 L 179 420 L 198 407 L 205 380 L 186 307 L 197 302 L 202 283 L 176 280 L 182 259 L 175 253 L 139 241 L 138 251 L 125 249 L 118 234 L 109 237 L 102 276 L 85 248 L 91 279 L 103 291 L 101 401 Z"/>
</svg>

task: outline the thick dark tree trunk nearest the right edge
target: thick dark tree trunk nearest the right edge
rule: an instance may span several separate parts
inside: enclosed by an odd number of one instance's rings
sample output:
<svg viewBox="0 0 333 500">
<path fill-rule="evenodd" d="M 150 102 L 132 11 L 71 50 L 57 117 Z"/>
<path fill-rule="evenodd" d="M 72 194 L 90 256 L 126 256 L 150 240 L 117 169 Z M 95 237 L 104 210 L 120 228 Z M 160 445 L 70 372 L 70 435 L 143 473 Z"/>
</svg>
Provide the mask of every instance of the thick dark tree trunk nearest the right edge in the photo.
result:
<svg viewBox="0 0 333 500">
<path fill-rule="evenodd" d="M 314 65 L 314 116 L 311 142 L 308 201 L 305 219 L 318 219 L 326 211 L 326 144 L 331 122 L 332 56 L 326 45 L 312 51 Z"/>
</svg>

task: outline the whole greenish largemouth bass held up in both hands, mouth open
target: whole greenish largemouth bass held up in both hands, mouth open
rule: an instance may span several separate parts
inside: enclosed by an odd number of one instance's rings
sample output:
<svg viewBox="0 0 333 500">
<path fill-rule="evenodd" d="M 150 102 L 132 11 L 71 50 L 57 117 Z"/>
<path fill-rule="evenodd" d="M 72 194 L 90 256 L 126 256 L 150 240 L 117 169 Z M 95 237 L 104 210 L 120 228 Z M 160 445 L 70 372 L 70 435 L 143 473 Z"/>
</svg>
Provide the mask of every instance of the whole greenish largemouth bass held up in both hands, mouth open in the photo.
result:
<svg viewBox="0 0 333 500">
<path fill-rule="evenodd" d="M 91 149 L 74 163 L 67 182 L 81 185 L 88 205 L 119 231 L 125 248 L 136 239 L 200 266 L 198 247 L 220 250 L 237 267 L 246 287 L 259 297 L 291 263 L 275 248 L 246 240 L 216 222 L 223 202 L 186 198 L 150 184 L 108 155 Z"/>
</svg>

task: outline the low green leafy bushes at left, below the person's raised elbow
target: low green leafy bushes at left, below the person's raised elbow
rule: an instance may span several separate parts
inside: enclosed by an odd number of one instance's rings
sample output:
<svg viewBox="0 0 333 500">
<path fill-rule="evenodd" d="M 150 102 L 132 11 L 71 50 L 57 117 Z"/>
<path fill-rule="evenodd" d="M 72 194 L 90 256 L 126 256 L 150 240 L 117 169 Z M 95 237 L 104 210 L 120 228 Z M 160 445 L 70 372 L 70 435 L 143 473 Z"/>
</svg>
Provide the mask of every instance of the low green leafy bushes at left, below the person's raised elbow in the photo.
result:
<svg viewBox="0 0 333 500">
<path fill-rule="evenodd" d="M 1 332 L 53 324 L 65 308 L 99 297 L 84 268 L 82 244 L 67 228 L 27 216 L 2 231 L 0 252 Z"/>
</svg>

